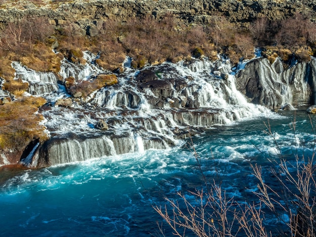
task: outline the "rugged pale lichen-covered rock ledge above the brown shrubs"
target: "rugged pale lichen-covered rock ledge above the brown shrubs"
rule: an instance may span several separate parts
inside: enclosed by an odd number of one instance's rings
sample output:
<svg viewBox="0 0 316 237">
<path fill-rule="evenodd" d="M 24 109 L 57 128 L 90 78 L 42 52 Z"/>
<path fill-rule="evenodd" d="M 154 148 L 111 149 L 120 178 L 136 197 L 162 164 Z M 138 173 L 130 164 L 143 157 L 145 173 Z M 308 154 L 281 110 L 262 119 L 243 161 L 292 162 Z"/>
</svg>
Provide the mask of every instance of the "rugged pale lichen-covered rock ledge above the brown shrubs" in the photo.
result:
<svg viewBox="0 0 316 237">
<path fill-rule="evenodd" d="M 93 34 L 94 25 L 102 19 L 112 18 L 126 21 L 131 17 L 152 15 L 160 17 L 171 12 L 186 22 L 207 24 L 212 16 L 224 15 L 230 21 L 250 22 L 257 17 L 282 19 L 293 15 L 298 9 L 314 14 L 316 8 L 311 1 L 266 1 L 266 0 L 146 0 L 146 1 L 75 1 L 59 6 L 36 7 L 33 4 L 21 8 L 0 9 L 0 22 L 16 22 L 26 17 L 48 17 L 51 24 L 64 24 L 66 20 L 79 22 Z M 94 23 L 93 23 L 94 22 Z"/>
</svg>

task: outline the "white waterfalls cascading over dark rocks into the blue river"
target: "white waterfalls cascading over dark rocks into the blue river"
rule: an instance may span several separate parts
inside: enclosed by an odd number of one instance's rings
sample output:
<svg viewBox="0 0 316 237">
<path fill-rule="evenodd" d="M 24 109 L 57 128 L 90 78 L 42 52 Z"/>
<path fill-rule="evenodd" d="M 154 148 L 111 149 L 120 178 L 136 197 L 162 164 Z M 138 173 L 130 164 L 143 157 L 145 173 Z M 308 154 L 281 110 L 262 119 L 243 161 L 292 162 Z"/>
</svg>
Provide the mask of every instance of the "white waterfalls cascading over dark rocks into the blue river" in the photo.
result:
<svg viewBox="0 0 316 237">
<path fill-rule="evenodd" d="M 61 81 L 70 76 L 76 81 L 94 80 L 97 74 L 110 74 L 94 65 L 93 54 L 84 52 L 84 58 L 85 65 L 63 60 Z M 76 100 L 70 108 L 52 107 L 42 111 L 52 139 L 37 152 L 38 164 L 45 166 L 150 148 L 165 149 L 178 144 L 179 138 L 214 125 L 267 115 L 270 113 L 267 108 L 249 103 L 239 91 L 240 72 L 247 71 L 247 66 L 254 63 L 259 64 L 257 75 L 265 88 L 263 100 L 268 106 L 279 104 L 279 100 L 292 102 L 289 86 L 292 82 L 285 80 L 289 70 L 285 71 L 277 62 L 268 65 L 267 60 L 260 58 L 238 65 L 235 71 L 228 60 L 212 63 L 194 58 L 191 62 L 164 63 L 139 71 L 126 68 L 117 75 L 119 84 L 103 87 L 79 102 Z M 127 58 L 123 66 L 129 65 Z M 36 73 L 18 63 L 13 67 L 19 78 L 32 84 L 30 91 L 34 94 L 46 94 L 46 90 L 36 85 L 47 84 L 47 91 L 55 92 L 45 95 L 50 101 L 69 97 L 61 85 L 57 87 L 56 75 Z M 295 66 L 290 69 L 291 75 L 294 69 Z M 295 70 L 302 71 L 304 67 Z M 309 70 L 312 71 L 311 66 Z M 296 91 L 308 90 L 302 81 L 295 84 Z M 95 124 L 99 120 L 106 121 L 109 129 L 97 130 Z M 80 138 L 65 139 L 67 134 L 77 134 Z"/>
</svg>

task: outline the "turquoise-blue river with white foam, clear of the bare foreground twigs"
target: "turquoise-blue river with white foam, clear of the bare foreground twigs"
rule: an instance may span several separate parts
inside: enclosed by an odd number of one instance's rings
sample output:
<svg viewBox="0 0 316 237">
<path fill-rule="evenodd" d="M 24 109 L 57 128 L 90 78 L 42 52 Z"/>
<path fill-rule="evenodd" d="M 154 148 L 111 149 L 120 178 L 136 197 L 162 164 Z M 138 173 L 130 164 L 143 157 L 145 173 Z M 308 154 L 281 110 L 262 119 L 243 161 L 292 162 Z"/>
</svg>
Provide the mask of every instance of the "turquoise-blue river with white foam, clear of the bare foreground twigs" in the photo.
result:
<svg viewBox="0 0 316 237">
<path fill-rule="evenodd" d="M 268 122 L 275 139 L 265 132 Z M 253 198 L 256 187 L 250 164 L 262 165 L 265 173 L 275 165 L 268 158 L 280 159 L 275 140 L 283 158 L 310 156 L 314 135 L 306 112 L 284 111 L 269 121 L 263 117 L 217 127 L 192 142 L 206 179 L 221 182 L 229 197 L 243 201 Z M 176 199 L 180 191 L 194 201 L 187 191 L 204 182 L 186 142 L 168 150 L 18 171 L 0 186 L 0 235 L 159 235 L 156 221 L 162 217 L 152 206 L 164 206 L 164 197 Z M 166 236 L 173 236 L 163 227 Z"/>
</svg>

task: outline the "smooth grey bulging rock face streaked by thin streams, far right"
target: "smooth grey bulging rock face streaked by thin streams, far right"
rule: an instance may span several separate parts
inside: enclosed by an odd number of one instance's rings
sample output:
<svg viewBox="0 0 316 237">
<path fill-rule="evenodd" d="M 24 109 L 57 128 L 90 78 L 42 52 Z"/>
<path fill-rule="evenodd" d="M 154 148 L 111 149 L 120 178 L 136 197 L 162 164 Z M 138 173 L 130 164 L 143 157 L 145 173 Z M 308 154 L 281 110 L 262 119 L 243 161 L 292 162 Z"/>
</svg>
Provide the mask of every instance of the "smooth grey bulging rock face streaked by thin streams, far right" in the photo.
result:
<svg viewBox="0 0 316 237">
<path fill-rule="evenodd" d="M 266 58 L 258 58 L 237 73 L 236 86 L 250 102 L 270 108 L 315 104 L 315 73 L 314 59 L 285 70 L 279 58 L 272 65 Z"/>
</svg>

